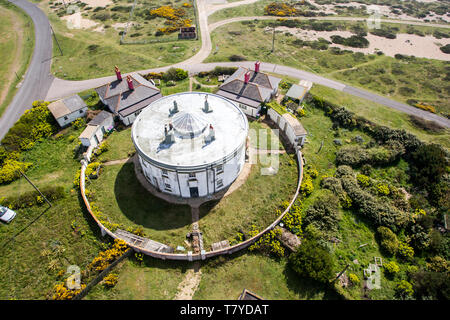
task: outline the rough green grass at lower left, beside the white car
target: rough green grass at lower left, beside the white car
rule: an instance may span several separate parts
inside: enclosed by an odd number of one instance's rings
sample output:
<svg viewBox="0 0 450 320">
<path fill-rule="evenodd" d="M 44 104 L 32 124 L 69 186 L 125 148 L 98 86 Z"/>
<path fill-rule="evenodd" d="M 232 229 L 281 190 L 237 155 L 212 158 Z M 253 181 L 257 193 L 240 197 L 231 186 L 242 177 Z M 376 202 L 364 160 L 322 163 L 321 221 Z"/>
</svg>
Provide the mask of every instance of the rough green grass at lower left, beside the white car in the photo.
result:
<svg viewBox="0 0 450 320">
<path fill-rule="evenodd" d="M 2 249 L 2 299 L 45 299 L 47 293 L 61 280 L 57 276 L 58 272 L 65 271 L 69 265 L 85 267 L 101 248 L 102 238 L 98 227 L 92 224 L 92 219 L 81 206 L 78 193 L 71 190 L 80 163 L 73 159 L 71 152 L 77 141 L 70 143 L 68 137 L 78 137 L 78 131 L 66 129 L 62 138 L 47 138 L 22 154 L 23 159 L 34 163 L 33 168 L 27 171 L 33 183 L 40 188 L 61 185 L 66 191 L 66 197 L 55 201 L 47 211 L 46 205 L 16 210 L 17 216 L 10 224 L 0 224 L 2 245 L 24 230 Z M 33 190 L 33 187 L 24 178 L 0 186 L 2 196 L 29 190 Z M 73 232 L 72 221 L 79 225 L 84 235 Z M 44 250 L 50 250 L 51 243 L 55 241 L 61 244 L 62 251 L 45 256 Z"/>
</svg>

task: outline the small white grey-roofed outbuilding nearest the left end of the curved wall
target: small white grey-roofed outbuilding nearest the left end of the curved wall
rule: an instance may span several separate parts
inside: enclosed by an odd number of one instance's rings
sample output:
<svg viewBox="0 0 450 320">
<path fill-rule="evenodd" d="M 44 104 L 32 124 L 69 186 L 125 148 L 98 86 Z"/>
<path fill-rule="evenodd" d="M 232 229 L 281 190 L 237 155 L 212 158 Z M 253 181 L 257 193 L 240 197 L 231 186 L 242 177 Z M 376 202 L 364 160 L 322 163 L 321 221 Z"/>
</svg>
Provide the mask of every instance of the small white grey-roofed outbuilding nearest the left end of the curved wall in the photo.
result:
<svg viewBox="0 0 450 320">
<path fill-rule="evenodd" d="M 113 115 L 108 111 L 101 111 L 86 126 L 86 129 L 78 137 L 85 147 L 96 147 L 103 140 L 106 132 L 114 128 Z"/>
</svg>

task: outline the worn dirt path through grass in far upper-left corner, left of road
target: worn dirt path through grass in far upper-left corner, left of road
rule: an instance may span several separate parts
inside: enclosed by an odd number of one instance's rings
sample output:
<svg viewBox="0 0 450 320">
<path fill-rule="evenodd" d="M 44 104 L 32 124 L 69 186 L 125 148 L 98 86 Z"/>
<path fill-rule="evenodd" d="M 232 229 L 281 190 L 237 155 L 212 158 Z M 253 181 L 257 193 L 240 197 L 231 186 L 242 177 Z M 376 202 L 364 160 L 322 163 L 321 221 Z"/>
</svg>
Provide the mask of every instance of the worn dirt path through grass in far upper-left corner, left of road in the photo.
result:
<svg viewBox="0 0 450 320">
<path fill-rule="evenodd" d="M 3 16 L 3 15 L 11 16 L 10 21 L 12 23 L 13 31 L 10 32 L 10 36 L 16 38 L 16 43 L 15 43 L 15 51 L 11 52 L 11 55 L 14 57 L 14 60 L 9 65 L 9 69 L 8 69 L 8 72 L 5 74 L 5 78 L 2 79 L 3 80 L 2 81 L 3 88 L 1 89 L 1 92 L 0 92 L 0 105 L 3 103 L 6 96 L 8 95 L 9 87 L 11 86 L 11 83 L 13 83 L 14 79 L 16 78 L 15 72 L 20 67 L 20 57 L 21 57 L 22 46 L 23 46 L 23 32 L 22 32 L 21 20 L 17 19 L 15 16 L 15 13 L 11 10 L 2 10 L 1 16 Z M 2 19 L 3 19 L 3 17 L 2 17 Z"/>
</svg>

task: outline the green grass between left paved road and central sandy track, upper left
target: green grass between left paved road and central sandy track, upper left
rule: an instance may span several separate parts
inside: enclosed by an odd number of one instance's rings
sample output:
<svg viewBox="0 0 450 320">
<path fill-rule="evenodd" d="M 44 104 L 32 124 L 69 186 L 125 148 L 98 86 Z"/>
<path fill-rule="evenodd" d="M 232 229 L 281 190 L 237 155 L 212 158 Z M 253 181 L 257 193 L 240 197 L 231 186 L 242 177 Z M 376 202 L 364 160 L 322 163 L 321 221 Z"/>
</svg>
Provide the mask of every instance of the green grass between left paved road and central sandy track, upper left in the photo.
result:
<svg viewBox="0 0 450 320">
<path fill-rule="evenodd" d="M 171 65 L 193 56 L 200 41 L 177 41 L 143 45 L 120 45 L 118 31 L 105 29 L 69 29 L 64 20 L 46 8 L 50 23 L 61 46 L 53 41 L 52 73 L 61 79 L 83 80 L 114 74 L 114 65 L 122 73 Z"/>
</svg>

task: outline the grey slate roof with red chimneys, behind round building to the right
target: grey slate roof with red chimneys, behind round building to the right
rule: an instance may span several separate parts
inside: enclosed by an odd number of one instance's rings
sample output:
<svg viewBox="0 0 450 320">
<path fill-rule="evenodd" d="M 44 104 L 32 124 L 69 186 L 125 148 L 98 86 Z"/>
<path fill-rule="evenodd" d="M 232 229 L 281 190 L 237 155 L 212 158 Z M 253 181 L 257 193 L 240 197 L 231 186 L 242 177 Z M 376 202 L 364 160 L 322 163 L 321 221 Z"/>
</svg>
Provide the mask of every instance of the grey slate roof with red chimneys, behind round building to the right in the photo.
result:
<svg viewBox="0 0 450 320">
<path fill-rule="evenodd" d="M 248 71 L 250 71 L 250 80 L 248 83 L 245 83 L 245 73 Z M 271 97 L 274 89 L 278 88 L 280 81 L 281 79 L 263 72 L 255 72 L 247 68 L 239 67 L 220 86 L 218 94 L 250 106 L 258 106 Z M 224 94 L 223 92 L 227 92 L 228 94 Z M 254 102 L 247 103 L 249 100 Z M 255 104 L 255 102 L 257 103 Z"/>
</svg>

